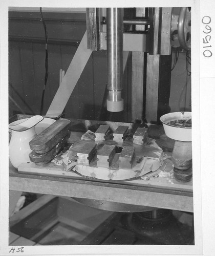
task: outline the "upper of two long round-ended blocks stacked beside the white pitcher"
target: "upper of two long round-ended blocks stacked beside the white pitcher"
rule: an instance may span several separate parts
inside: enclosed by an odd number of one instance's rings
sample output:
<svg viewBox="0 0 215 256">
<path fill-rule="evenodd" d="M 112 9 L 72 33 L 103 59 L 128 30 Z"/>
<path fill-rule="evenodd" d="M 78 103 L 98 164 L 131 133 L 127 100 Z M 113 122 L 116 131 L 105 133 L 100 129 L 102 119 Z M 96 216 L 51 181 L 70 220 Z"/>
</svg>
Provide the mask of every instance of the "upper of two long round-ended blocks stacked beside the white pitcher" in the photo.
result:
<svg viewBox="0 0 215 256">
<path fill-rule="evenodd" d="M 29 142 L 31 150 L 37 154 L 49 152 L 67 135 L 70 122 L 68 119 L 60 119 L 51 124 Z"/>
</svg>

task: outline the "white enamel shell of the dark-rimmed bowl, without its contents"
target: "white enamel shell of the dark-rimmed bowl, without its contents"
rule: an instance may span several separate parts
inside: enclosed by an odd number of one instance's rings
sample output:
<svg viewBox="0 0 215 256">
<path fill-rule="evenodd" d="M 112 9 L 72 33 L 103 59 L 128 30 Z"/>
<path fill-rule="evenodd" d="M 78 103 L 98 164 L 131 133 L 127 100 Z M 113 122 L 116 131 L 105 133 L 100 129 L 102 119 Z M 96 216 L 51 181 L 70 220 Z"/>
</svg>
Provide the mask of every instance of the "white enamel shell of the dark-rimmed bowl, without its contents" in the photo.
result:
<svg viewBox="0 0 215 256">
<path fill-rule="evenodd" d="M 173 112 L 168 113 L 160 117 L 160 121 L 163 124 L 164 132 L 167 137 L 179 141 L 192 141 L 191 127 L 183 126 L 174 126 L 168 124 L 170 121 L 179 120 L 179 119 L 188 119 L 191 117 L 191 112 Z"/>
</svg>

